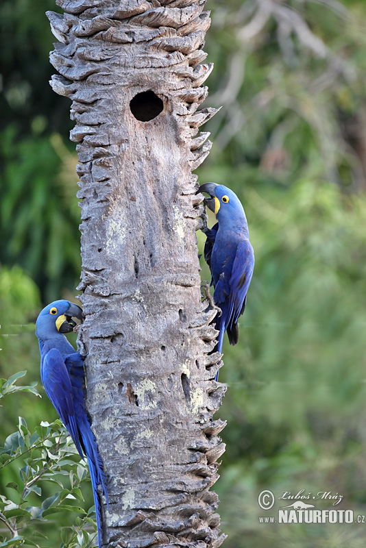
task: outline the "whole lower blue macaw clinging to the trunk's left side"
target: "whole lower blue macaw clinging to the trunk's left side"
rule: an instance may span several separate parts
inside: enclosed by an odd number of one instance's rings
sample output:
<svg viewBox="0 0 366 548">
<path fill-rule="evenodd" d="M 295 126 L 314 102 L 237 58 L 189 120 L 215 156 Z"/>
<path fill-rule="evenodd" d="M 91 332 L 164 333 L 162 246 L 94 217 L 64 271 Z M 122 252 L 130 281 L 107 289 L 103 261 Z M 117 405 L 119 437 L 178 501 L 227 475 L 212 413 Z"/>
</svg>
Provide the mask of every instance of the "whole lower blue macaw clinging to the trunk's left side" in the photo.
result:
<svg viewBox="0 0 366 548">
<path fill-rule="evenodd" d="M 97 443 L 90 428 L 84 403 L 84 358 L 71 346 L 64 333 L 73 331 L 82 319 L 82 309 L 66 300 L 54 301 L 40 312 L 36 321 L 36 336 L 40 347 L 40 378 L 47 396 L 60 419 L 69 430 L 77 451 L 88 459 L 97 515 L 98 543 L 101 548 L 101 504 L 98 486 L 101 485 L 108 505 L 106 476 Z"/>
</svg>

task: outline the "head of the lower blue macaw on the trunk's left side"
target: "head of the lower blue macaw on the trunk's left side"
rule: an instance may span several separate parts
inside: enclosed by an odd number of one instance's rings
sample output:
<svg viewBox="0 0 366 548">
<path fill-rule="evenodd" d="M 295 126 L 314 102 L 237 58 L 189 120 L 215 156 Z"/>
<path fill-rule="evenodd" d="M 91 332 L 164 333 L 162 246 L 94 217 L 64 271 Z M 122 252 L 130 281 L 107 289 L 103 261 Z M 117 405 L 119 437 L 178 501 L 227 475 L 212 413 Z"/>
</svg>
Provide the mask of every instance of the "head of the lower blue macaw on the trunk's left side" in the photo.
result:
<svg viewBox="0 0 366 548">
<path fill-rule="evenodd" d="M 70 333 L 76 325 L 72 318 L 82 320 L 82 309 L 64 299 L 53 301 L 40 312 L 36 321 L 36 336 L 45 340 L 58 333 Z"/>
</svg>

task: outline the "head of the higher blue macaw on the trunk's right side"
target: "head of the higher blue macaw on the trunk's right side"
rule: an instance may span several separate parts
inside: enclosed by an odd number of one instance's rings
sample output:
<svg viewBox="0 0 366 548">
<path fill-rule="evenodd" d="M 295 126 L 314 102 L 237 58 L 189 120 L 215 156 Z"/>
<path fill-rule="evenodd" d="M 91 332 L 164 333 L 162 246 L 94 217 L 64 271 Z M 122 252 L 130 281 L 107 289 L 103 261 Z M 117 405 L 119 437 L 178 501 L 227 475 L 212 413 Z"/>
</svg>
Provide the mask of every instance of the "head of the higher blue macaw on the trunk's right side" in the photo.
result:
<svg viewBox="0 0 366 548">
<path fill-rule="evenodd" d="M 245 223 L 245 212 L 241 201 L 227 186 L 216 183 L 202 184 L 197 192 L 206 192 L 210 198 L 205 198 L 204 203 L 209 210 L 215 213 L 217 221 L 226 221 L 229 223 L 237 223 L 239 219 L 243 219 Z"/>
</svg>

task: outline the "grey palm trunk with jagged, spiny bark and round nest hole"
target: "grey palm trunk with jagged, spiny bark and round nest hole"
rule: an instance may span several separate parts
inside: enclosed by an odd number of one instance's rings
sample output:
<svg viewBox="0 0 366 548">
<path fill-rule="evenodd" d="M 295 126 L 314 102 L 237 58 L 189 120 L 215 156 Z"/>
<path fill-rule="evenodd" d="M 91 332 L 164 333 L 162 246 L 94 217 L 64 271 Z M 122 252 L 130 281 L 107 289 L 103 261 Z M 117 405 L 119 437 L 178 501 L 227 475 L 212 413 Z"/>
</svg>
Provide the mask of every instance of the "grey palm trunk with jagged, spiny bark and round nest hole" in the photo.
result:
<svg viewBox="0 0 366 548">
<path fill-rule="evenodd" d="M 216 548 L 225 536 L 209 488 L 224 423 L 212 414 L 224 388 L 213 380 L 221 356 L 210 353 L 216 311 L 201 301 L 191 173 L 210 149 L 207 133 L 193 136 L 215 114 L 197 111 L 212 69 L 200 64 L 209 14 L 204 0 L 57 3 L 52 86 L 76 122 L 78 344 L 108 475 L 104 542 Z"/>
</svg>

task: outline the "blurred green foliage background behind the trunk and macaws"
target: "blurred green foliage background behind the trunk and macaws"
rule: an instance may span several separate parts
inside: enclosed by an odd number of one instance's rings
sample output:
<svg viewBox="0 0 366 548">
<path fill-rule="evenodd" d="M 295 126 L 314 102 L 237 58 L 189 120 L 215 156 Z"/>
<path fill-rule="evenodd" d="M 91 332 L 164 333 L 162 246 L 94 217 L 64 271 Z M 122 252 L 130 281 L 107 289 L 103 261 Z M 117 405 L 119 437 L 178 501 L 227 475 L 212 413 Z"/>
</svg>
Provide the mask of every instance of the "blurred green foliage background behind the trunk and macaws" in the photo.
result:
<svg viewBox="0 0 366 548">
<path fill-rule="evenodd" d="M 26 384 L 39 381 L 36 315 L 73 297 L 80 275 L 77 158 L 69 101 L 47 85 L 48 9 L 58 10 L 53 0 L 0 5 L 1 377 L 27 369 Z M 257 499 L 263 489 L 331 491 L 343 495 L 335 508 L 366 514 L 366 4 L 211 0 L 208 9 L 215 69 L 205 104 L 223 108 L 204 127 L 214 145 L 197 173 L 237 192 L 256 253 L 239 345 L 226 342 L 220 373 L 225 546 L 363 547 L 363 524 L 259 523 L 291 501 L 266 513 Z M 0 413 L 0 445 L 18 415 L 29 432 L 56 419 L 47 397 L 23 391 Z M 16 461 L 0 471 L 10 499 L 15 481 Z M 42 525 L 51 540 L 40 546 L 64 542 L 64 519 Z"/>
</svg>

